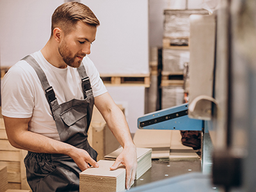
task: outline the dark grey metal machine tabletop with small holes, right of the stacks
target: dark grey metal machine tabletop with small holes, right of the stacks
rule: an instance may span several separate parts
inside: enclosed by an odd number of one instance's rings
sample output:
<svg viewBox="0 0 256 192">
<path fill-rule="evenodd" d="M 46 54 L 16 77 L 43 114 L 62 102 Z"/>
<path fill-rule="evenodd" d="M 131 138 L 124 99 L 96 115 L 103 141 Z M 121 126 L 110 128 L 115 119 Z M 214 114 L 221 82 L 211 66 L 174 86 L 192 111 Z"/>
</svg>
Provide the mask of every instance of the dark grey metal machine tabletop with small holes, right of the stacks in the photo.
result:
<svg viewBox="0 0 256 192">
<path fill-rule="evenodd" d="M 169 159 L 152 159 L 150 168 L 140 179 L 135 180 L 135 186 L 141 186 L 157 180 L 175 177 L 189 172 L 201 172 L 200 159 L 188 159 L 180 161 L 170 161 Z"/>
</svg>

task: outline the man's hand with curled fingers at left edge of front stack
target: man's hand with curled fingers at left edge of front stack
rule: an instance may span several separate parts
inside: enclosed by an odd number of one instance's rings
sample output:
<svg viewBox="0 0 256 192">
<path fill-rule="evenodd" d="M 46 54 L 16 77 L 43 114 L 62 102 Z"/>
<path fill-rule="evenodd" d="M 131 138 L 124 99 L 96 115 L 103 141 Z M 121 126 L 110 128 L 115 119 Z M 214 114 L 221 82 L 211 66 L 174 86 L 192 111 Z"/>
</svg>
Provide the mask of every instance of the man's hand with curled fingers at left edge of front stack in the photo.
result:
<svg viewBox="0 0 256 192">
<path fill-rule="evenodd" d="M 88 163 L 90 163 L 93 167 L 99 167 L 99 164 L 94 161 L 94 159 L 92 159 L 90 154 L 81 148 L 74 148 L 74 150 L 70 151 L 68 156 L 70 156 L 75 161 L 82 172 L 90 167 Z"/>
</svg>

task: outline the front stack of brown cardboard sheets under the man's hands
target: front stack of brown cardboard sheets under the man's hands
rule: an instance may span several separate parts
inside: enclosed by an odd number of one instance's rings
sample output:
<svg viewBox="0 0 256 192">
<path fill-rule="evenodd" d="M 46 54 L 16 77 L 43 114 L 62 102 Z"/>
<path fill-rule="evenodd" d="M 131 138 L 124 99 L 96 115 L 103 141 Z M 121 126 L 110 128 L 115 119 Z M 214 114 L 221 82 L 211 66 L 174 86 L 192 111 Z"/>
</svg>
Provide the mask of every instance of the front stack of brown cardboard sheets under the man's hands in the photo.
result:
<svg viewBox="0 0 256 192">
<path fill-rule="evenodd" d="M 113 161 L 98 161 L 99 168 L 88 168 L 79 174 L 80 192 L 110 192 L 125 190 L 125 167 L 109 170 Z"/>
</svg>

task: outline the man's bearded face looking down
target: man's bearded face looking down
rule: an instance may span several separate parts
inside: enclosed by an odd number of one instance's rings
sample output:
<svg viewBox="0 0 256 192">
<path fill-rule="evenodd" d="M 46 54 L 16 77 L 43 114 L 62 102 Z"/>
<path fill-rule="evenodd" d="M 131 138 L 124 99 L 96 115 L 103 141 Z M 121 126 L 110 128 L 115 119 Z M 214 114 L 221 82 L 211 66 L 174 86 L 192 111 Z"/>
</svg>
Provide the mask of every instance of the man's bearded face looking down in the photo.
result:
<svg viewBox="0 0 256 192">
<path fill-rule="evenodd" d="M 79 67 L 86 56 L 90 54 L 90 47 L 95 40 L 97 28 L 77 22 L 76 29 L 64 36 L 58 51 L 63 61 L 70 67 Z"/>
</svg>

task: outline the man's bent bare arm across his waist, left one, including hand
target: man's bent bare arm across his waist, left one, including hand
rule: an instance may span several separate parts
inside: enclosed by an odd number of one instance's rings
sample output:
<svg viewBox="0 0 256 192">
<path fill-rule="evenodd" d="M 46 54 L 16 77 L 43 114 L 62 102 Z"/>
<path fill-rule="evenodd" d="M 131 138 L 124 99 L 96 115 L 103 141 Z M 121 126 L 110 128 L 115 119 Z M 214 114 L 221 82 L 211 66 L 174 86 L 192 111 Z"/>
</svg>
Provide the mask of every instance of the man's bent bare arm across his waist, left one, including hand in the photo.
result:
<svg viewBox="0 0 256 192">
<path fill-rule="evenodd" d="M 88 163 L 94 167 L 99 166 L 86 150 L 28 131 L 29 120 L 30 118 L 10 118 L 4 116 L 8 140 L 13 147 L 31 152 L 70 156 L 82 171 L 88 168 Z"/>
</svg>

